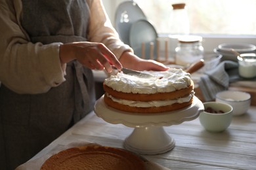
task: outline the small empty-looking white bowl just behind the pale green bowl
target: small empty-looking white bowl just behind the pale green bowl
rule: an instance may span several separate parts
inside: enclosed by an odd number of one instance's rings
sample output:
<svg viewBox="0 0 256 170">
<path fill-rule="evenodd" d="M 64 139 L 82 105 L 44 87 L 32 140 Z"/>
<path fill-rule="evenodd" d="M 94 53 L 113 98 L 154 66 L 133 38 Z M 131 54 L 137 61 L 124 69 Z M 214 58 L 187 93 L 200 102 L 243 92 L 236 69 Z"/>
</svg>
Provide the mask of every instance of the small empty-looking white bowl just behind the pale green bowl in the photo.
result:
<svg viewBox="0 0 256 170">
<path fill-rule="evenodd" d="M 215 101 L 227 103 L 233 107 L 233 115 L 245 114 L 251 105 L 251 95 L 246 92 L 226 90 L 216 94 Z"/>
</svg>

